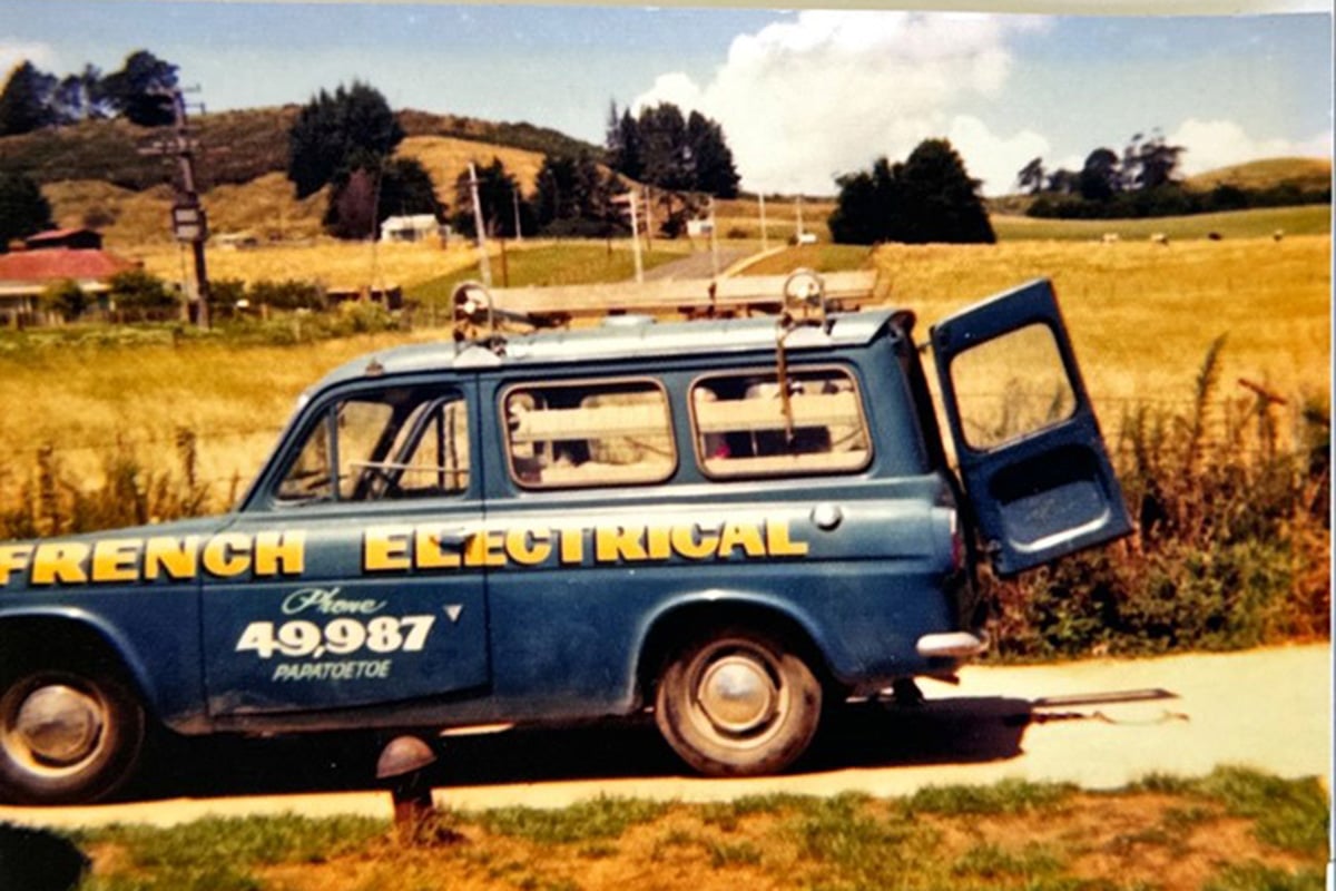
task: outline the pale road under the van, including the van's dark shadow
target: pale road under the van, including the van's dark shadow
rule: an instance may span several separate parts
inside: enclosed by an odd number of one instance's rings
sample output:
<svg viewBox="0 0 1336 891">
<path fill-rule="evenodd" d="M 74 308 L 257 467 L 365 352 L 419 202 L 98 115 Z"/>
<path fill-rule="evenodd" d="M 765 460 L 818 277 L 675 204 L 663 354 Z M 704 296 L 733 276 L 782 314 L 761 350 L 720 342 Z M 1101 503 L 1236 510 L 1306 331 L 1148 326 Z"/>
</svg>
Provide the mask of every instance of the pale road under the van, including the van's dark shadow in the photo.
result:
<svg viewBox="0 0 1336 891">
<path fill-rule="evenodd" d="M 1005 777 L 1124 785 L 1148 772 L 1201 775 L 1245 764 L 1331 788 L 1331 648 L 1038 667 L 967 667 L 925 683 L 918 708 L 855 705 L 800 769 L 778 777 L 684 776 L 652 725 L 446 740 L 430 768 L 454 808 L 560 807 L 597 795 L 725 800 L 739 795 L 904 795 Z M 359 737 L 203 740 L 160 755 L 148 800 L 77 808 L 0 807 L 0 823 L 172 824 L 204 815 L 363 814 L 389 818 Z M 204 769 L 204 765 L 220 765 Z"/>
</svg>

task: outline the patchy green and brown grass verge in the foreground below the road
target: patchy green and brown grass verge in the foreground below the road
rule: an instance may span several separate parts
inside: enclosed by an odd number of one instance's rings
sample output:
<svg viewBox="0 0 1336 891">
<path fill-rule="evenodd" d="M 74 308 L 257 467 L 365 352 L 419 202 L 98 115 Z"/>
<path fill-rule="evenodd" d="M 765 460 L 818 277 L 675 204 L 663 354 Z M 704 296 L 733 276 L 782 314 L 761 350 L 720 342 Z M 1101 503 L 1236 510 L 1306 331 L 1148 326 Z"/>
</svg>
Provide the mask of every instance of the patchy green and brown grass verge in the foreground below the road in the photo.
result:
<svg viewBox="0 0 1336 891">
<path fill-rule="evenodd" d="M 899 799 L 596 799 L 433 820 L 403 835 L 366 819 L 207 819 L 71 840 L 92 863 L 80 891 L 1316 890 L 1327 816 L 1316 780 L 1218 768 L 1112 792 L 1007 780 Z M 1311 828 L 1276 835 L 1273 823 Z"/>
</svg>

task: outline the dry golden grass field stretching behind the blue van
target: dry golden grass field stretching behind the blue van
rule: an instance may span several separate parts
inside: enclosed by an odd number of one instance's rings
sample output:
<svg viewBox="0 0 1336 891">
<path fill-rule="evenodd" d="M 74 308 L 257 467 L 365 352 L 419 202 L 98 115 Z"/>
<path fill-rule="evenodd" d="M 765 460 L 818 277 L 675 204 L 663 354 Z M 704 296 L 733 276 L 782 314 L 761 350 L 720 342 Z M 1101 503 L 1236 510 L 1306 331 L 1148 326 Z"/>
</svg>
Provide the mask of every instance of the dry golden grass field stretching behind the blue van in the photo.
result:
<svg viewBox="0 0 1336 891">
<path fill-rule="evenodd" d="M 526 242 L 528 244 L 528 242 Z M 818 248 L 772 258 L 792 269 Z M 326 281 L 365 275 L 370 246 L 212 251 L 216 277 Z M 143 254 L 159 274 L 179 269 L 176 248 Z M 912 309 L 926 326 L 989 294 L 1035 277 L 1053 278 L 1085 369 L 1088 387 L 1116 435 L 1138 406 L 1178 410 L 1210 342 L 1226 335 L 1220 395 L 1240 406 L 1246 377 L 1289 399 L 1329 401 L 1331 236 L 1281 242 L 1230 239 L 1092 244 L 1013 242 L 995 246 L 884 246 L 872 254 L 883 299 Z M 395 246 L 378 250 L 387 279 L 411 286 L 473 262 L 469 251 Z M 365 278 L 358 279 L 365 281 Z M 184 342 L 179 347 L 25 349 L 0 351 L 0 493 L 23 485 L 41 443 L 72 468 L 95 468 L 118 439 L 140 454 L 172 450 L 178 427 L 198 435 L 200 474 L 222 497 L 248 480 L 298 393 L 354 355 L 444 330 L 279 346 Z M 1245 407 L 1240 409 L 1241 411 Z M 1284 423 L 1283 423 L 1284 426 Z"/>
</svg>

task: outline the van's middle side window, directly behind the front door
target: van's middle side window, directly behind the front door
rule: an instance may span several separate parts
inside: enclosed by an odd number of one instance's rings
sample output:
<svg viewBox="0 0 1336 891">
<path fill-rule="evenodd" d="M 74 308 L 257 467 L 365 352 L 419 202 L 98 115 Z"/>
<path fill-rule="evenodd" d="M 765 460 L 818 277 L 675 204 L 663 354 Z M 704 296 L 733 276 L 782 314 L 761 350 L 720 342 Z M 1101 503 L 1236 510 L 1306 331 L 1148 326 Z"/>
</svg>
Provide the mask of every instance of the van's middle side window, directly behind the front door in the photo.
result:
<svg viewBox="0 0 1336 891">
<path fill-rule="evenodd" d="M 510 476 L 533 489 L 663 482 L 677 466 L 653 381 L 521 385 L 502 398 Z"/>
</svg>

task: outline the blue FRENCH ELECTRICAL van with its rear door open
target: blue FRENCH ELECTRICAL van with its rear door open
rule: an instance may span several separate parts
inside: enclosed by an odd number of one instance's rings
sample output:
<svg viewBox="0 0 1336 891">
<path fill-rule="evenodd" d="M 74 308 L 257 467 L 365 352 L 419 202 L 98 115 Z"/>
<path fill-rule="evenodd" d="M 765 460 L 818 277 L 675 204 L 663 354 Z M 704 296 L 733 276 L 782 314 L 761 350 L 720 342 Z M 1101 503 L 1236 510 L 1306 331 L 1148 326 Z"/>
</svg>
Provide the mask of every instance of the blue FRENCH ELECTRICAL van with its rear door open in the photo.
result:
<svg viewBox="0 0 1336 891">
<path fill-rule="evenodd" d="M 302 397 L 232 513 L 0 545 L 0 796 L 104 797 L 159 728 L 645 709 L 692 768 L 767 773 L 823 705 L 950 675 L 986 647 L 977 560 L 1130 529 L 1053 290 L 921 345 L 808 286 L 779 318 L 379 351 Z"/>
</svg>

